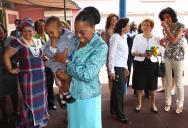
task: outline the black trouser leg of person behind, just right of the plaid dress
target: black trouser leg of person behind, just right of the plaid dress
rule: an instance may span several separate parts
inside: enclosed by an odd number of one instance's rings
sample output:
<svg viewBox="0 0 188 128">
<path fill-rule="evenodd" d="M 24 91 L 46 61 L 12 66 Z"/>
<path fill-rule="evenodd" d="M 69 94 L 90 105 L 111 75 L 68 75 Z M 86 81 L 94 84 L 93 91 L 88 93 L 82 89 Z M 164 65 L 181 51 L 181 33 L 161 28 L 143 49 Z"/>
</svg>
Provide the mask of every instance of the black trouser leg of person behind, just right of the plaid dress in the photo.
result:
<svg viewBox="0 0 188 128">
<path fill-rule="evenodd" d="M 54 84 L 54 75 L 50 68 L 45 68 L 46 72 L 46 86 L 48 91 L 48 106 L 53 107 L 54 106 L 54 90 L 53 90 L 53 84 Z"/>
</svg>

